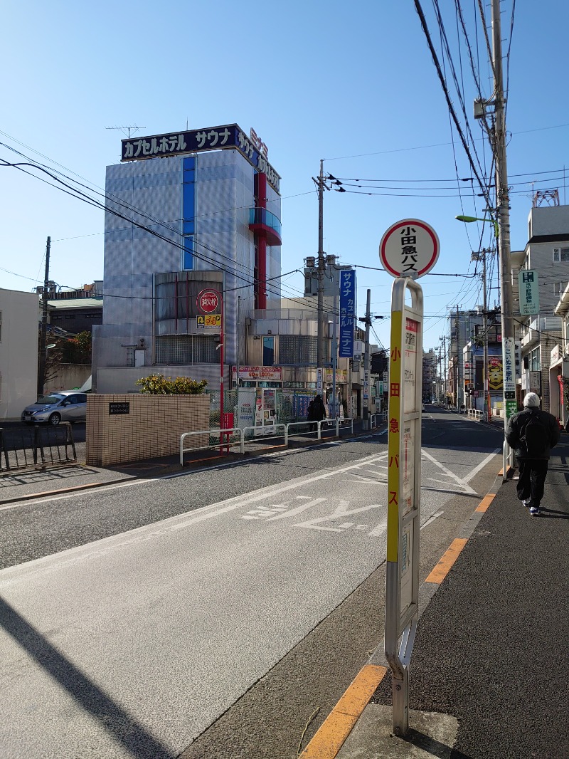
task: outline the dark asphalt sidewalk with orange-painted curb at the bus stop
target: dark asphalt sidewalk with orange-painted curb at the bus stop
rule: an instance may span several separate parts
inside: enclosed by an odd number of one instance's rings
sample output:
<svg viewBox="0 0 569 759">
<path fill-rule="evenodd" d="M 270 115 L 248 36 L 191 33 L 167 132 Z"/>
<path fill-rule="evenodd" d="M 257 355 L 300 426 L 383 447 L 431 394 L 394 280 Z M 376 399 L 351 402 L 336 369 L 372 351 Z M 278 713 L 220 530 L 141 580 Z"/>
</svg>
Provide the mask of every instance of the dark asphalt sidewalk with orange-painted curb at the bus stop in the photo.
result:
<svg viewBox="0 0 569 759">
<path fill-rule="evenodd" d="M 420 588 L 408 740 L 391 735 L 391 676 L 378 650 L 360 675 L 381 682 L 343 745 L 329 729 L 323 751 L 324 723 L 303 759 L 569 757 L 569 436 L 552 454 L 542 515 L 530 517 L 515 480 L 500 477 L 457 535 L 467 540 L 448 574 Z M 355 714 L 348 691 L 351 707 L 340 715 L 340 702 L 329 720 Z"/>
</svg>

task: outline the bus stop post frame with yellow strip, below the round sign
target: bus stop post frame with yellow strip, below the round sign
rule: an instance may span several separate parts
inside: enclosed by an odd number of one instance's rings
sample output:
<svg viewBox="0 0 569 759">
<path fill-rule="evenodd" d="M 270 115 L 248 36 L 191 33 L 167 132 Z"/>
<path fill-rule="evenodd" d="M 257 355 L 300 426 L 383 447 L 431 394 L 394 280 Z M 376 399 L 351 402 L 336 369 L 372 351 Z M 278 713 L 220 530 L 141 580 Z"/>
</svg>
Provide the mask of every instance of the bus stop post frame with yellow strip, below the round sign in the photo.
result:
<svg viewBox="0 0 569 759">
<path fill-rule="evenodd" d="M 423 291 L 414 279 L 398 277 L 391 294 L 385 657 L 393 676 L 393 728 L 400 735 L 408 727 L 408 670 L 419 612 L 422 388 Z"/>
</svg>

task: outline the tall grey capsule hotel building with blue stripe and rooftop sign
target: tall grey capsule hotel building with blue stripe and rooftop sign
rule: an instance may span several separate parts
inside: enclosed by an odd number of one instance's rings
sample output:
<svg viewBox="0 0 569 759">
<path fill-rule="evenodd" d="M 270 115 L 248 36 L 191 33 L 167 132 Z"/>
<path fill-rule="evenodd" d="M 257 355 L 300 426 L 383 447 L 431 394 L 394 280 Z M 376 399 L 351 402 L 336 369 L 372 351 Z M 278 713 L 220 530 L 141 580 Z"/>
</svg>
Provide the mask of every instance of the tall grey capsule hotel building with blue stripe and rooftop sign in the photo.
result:
<svg viewBox="0 0 569 759">
<path fill-rule="evenodd" d="M 133 137 L 122 156 L 106 175 L 93 389 L 137 392 L 137 379 L 162 373 L 215 391 L 222 355 L 231 386 L 248 318 L 281 295 L 280 177 L 266 147 L 230 124 Z M 219 296 L 213 313 L 200 306 L 207 290 Z"/>
</svg>

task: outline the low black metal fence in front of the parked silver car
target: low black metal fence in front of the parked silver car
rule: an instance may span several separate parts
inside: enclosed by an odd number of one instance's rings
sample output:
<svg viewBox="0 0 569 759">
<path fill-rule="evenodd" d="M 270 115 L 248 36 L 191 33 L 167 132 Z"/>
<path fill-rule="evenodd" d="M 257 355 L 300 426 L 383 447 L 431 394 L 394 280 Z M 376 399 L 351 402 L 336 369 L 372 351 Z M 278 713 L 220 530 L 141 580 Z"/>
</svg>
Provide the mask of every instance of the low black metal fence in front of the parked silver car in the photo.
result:
<svg viewBox="0 0 569 759">
<path fill-rule="evenodd" d="M 77 452 L 71 424 L 0 427 L 0 472 L 73 464 Z"/>
</svg>

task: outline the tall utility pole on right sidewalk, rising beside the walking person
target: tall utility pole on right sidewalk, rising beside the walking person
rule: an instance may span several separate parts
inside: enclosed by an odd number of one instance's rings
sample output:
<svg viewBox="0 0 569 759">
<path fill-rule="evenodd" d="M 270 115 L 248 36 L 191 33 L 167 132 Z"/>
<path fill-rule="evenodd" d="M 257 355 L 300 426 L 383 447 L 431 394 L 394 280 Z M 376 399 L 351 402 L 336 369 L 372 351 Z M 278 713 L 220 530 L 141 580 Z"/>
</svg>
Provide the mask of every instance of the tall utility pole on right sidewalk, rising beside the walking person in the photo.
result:
<svg viewBox="0 0 569 759">
<path fill-rule="evenodd" d="M 502 365 L 504 369 L 504 426 L 506 427 L 508 425 L 508 417 L 515 413 L 516 395 L 513 383 L 514 362 L 511 361 L 511 357 L 514 354 L 514 298 L 512 295 L 510 272 L 510 199 L 508 192 L 508 168 L 506 163 L 506 119 L 501 58 L 499 0 L 492 0 L 492 58 L 495 92 L 495 181 L 498 212 L 498 250 L 500 257 L 501 345 Z M 510 371 L 511 376 L 508 376 Z"/>
</svg>

